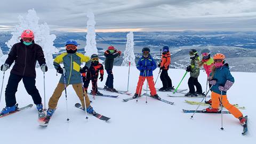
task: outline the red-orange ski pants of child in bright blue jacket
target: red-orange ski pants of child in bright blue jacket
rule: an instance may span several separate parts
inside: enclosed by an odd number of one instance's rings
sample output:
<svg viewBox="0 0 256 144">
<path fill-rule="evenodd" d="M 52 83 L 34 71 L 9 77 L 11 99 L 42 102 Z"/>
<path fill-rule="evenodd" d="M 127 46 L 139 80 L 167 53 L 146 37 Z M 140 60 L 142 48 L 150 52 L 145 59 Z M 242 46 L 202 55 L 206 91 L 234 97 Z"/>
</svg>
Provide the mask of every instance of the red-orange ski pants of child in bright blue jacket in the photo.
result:
<svg viewBox="0 0 256 144">
<path fill-rule="evenodd" d="M 141 95 L 142 86 L 143 86 L 143 83 L 144 83 L 146 78 L 147 78 L 147 81 L 148 81 L 148 86 L 149 86 L 151 95 L 156 95 L 156 88 L 155 88 L 155 83 L 154 83 L 153 76 L 148 76 L 148 77 L 140 76 L 138 84 L 137 84 L 136 93 L 138 95 Z"/>
</svg>

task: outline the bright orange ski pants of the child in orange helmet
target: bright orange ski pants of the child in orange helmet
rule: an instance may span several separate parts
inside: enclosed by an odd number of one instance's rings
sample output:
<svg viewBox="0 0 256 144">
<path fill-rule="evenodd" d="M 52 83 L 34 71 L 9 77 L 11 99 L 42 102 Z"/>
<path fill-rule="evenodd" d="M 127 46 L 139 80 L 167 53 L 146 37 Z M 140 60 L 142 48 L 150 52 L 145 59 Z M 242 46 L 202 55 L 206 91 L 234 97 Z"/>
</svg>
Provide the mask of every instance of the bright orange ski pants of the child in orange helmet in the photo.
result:
<svg viewBox="0 0 256 144">
<path fill-rule="evenodd" d="M 219 108 L 220 101 L 221 101 L 221 94 L 212 92 L 211 95 L 212 98 L 212 108 Z M 222 105 L 225 107 L 232 115 L 234 115 L 236 118 L 239 118 L 243 116 L 240 110 L 238 110 L 235 106 L 231 105 L 228 102 L 227 95 L 222 95 Z"/>
</svg>

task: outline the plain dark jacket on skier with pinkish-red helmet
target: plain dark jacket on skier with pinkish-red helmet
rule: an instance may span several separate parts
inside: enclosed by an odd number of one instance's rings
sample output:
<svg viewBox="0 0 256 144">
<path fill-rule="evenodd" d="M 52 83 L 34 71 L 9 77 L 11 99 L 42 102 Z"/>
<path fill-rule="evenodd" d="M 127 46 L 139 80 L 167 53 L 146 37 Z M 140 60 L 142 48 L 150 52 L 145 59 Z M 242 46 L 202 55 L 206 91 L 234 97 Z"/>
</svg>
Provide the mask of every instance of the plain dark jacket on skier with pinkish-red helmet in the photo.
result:
<svg viewBox="0 0 256 144">
<path fill-rule="evenodd" d="M 36 61 L 39 65 L 45 63 L 44 52 L 38 44 L 25 45 L 21 39 L 20 43 L 12 46 L 5 63 L 9 66 L 15 61 L 11 74 L 20 76 L 36 77 Z"/>
</svg>

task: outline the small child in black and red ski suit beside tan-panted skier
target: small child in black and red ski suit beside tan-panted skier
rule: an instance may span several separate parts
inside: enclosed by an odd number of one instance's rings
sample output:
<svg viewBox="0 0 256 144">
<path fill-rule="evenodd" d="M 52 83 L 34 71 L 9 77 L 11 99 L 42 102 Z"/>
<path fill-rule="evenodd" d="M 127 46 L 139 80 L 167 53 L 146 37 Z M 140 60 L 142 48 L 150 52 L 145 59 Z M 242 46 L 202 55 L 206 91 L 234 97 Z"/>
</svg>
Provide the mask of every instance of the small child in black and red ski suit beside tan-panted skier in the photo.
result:
<svg viewBox="0 0 256 144">
<path fill-rule="evenodd" d="M 84 82 L 84 90 L 87 93 L 87 89 L 90 83 L 90 80 L 92 81 L 92 91 L 91 94 L 93 95 L 103 95 L 98 91 L 97 81 L 98 76 L 100 72 L 100 81 L 103 81 L 103 75 L 104 75 L 104 69 L 103 65 L 99 62 L 99 57 L 97 54 L 91 55 L 91 67 L 86 73 L 83 73 L 83 82 Z"/>
</svg>

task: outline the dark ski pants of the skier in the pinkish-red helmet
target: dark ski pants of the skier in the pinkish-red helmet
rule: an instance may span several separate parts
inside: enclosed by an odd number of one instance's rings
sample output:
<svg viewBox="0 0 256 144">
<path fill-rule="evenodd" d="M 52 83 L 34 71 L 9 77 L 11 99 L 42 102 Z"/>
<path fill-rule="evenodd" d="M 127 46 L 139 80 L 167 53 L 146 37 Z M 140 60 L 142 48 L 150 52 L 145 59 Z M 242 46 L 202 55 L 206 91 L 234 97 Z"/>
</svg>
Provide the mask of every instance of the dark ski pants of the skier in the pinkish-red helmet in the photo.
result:
<svg viewBox="0 0 256 144">
<path fill-rule="evenodd" d="M 15 93 L 17 92 L 19 82 L 23 81 L 26 91 L 29 95 L 31 95 L 35 105 L 42 103 L 42 98 L 36 89 L 36 80 L 34 77 L 27 77 L 27 76 L 19 76 L 15 74 L 10 74 L 8 79 L 8 83 L 5 89 L 5 102 L 6 107 L 14 106 L 17 101 L 15 98 Z"/>
</svg>

